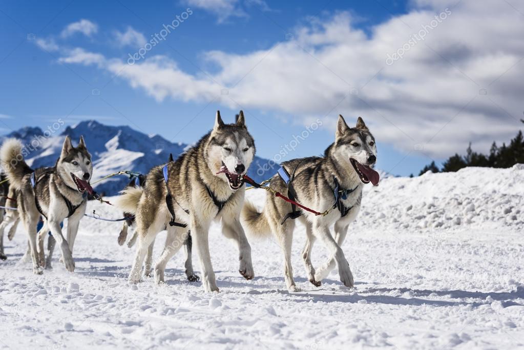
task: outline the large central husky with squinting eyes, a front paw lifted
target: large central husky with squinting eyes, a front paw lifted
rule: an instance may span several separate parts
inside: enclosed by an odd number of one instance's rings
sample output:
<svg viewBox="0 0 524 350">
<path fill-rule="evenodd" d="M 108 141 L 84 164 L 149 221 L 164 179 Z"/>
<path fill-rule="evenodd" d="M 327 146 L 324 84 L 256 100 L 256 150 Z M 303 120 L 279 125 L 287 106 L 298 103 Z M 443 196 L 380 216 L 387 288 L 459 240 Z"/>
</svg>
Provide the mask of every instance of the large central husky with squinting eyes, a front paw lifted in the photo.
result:
<svg viewBox="0 0 524 350">
<path fill-rule="evenodd" d="M 136 216 L 139 242 L 129 282 L 139 282 L 149 244 L 167 227 L 166 246 L 155 268 L 157 283 L 164 281 L 167 262 L 191 230 L 204 290 L 219 291 L 209 253 L 208 232 L 213 220 L 222 220 L 223 234 L 235 240 L 240 274 L 248 280 L 254 277 L 251 247 L 239 220 L 245 192 L 243 176 L 254 156 L 255 144 L 244 113 L 239 113 L 235 124 L 224 124 L 217 111 L 210 133 L 176 161 L 153 168 L 143 190 L 130 189 L 121 196 L 119 205 Z"/>
</svg>

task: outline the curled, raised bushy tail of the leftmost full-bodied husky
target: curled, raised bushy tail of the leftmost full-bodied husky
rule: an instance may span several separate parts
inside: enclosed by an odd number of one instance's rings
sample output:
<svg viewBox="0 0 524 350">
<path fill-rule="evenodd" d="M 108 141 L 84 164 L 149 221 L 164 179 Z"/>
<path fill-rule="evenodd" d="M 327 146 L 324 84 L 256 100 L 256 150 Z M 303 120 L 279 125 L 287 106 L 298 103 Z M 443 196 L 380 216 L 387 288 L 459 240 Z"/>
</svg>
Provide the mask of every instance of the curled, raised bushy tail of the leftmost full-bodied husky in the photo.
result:
<svg viewBox="0 0 524 350">
<path fill-rule="evenodd" d="M 9 186 L 14 189 L 21 187 L 22 179 L 28 173 L 32 172 L 22 154 L 22 143 L 16 138 L 5 140 L 0 148 L 0 162 L 5 171 Z"/>
</svg>

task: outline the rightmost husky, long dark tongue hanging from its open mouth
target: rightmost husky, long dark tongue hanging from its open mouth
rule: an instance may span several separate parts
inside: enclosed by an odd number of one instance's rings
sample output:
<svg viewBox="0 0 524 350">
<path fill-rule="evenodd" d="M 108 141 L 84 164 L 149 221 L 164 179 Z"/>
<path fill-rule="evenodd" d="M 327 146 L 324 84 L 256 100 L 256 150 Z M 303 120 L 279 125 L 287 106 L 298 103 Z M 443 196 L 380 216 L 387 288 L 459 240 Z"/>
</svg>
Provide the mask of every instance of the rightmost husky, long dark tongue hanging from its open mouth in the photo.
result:
<svg viewBox="0 0 524 350">
<path fill-rule="evenodd" d="M 293 159 L 282 163 L 289 173 L 292 187 L 283 178 L 275 175 L 270 187 L 280 193 L 289 193 L 300 204 L 317 211 L 333 208 L 327 215 L 314 215 L 293 207 L 291 217 L 287 218 L 291 205 L 276 196 L 268 195 L 264 210 L 259 213 L 256 207 L 247 202 L 242 210 L 243 224 L 252 234 L 275 234 L 284 253 L 284 271 L 287 288 L 294 292 L 299 289 L 293 280 L 291 266 L 291 244 L 294 221 L 298 216 L 305 225 L 307 243 L 302 258 L 308 278 L 315 286 L 321 285 L 336 265 L 342 283 L 353 287 L 353 275 L 341 249 L 348 225 L 355 220 L 361 206 L 363 184 L 378 183 L 378 173 L 370 168 L 376 162 L 377 149 L 375 138 L 369 132 L 361 117 L 356 127 L 347 126 L 340 115 L 337 123 L 335 142 L 325 150 L 324 157 Z M 330 233 L 330 226 L 335 225 L 335 237 Z M 331 258 L 316 271 L 311 264 L 311 250 L 315 239 L 320 239 L 328 248 Z"/>
</svg>

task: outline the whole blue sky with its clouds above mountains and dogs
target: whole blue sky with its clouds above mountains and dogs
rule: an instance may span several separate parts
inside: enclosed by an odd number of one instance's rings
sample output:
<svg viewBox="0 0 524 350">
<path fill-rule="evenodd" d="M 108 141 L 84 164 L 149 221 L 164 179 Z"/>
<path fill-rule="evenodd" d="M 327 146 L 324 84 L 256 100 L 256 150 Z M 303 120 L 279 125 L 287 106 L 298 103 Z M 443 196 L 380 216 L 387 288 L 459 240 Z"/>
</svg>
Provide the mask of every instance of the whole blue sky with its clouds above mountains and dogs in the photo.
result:
<svg viewBox="0 0 524 350">
<path fill-rule="evenodd" d="M 524 8 L 506 4 L 4 1 L 0 128 L 97 119 L 193 143 L 216 110 L 232 122 L 242 108 L 257 154 L 274 158 L 320 119 L 290 159 L 320 154 L 338 114 L 362 115 L 378 167 L 418 173 L 470 141 L 486 151 L 516 133 L 524 45 L 511 33 L 523 32 Z M 177 15 L 187 19 L 126 63 Z"/>
</svg>

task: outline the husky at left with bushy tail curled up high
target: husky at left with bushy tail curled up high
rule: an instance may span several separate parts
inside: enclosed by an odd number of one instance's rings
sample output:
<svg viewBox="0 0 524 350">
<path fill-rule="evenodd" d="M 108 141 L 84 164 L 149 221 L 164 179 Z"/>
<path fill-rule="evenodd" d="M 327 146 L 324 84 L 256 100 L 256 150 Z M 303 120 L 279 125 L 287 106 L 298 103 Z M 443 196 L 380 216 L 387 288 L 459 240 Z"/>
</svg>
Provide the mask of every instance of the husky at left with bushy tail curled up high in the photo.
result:
<svg viewBox="0 0 524 350">
<path fill-rule="evenodd" d="M 37 245 L 40 216 L 44 218 L 44 225 L 38 236 L 43 237 L 51 231 L 62 250 L 65 268 L 74 271 L 71 252 L 80 219 L 85 213 L 87 202 L 84 193 L 93 193 L 88 182 L 93 165 L 83 137 L 80 138 L 78 147 L 73 147 L 67 136 L 60 157 L 52 168 L 29 168 L 23 157 L 22 144 L 17 139 L 5 141 L 0 149 L 0 159 L 10 186 L 18 191 L 18 215 L 29 236 L 33 271 L 35 274 L 42 274 L 46 265 L 43 258 L 43 239 L 39 239 Z M 64 218 L 68 218 L 67 240 L 60 227 Z M 47 265 L 50 264 L 49 258 Z"/>
</svg>

